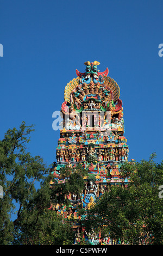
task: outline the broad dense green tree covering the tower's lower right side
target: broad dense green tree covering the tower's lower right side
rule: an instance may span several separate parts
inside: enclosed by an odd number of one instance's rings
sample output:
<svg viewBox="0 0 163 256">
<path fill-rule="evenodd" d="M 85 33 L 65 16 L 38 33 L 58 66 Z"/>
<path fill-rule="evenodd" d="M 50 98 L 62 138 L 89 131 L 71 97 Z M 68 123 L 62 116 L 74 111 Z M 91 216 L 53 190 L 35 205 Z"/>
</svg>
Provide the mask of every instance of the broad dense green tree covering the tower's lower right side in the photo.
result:
<svg viewBox="0 0 163 256">
<path fill-rule="evenodd" d="M 127 187 L 110 187 L 93 208 L 87 210 L 86 230 L 95 228 L 119 243 L 128 245 L 162 245 L 163 201 L 159 186 L 163 184 L 163 163 L 149 161 L 124 163 L 122 175 L 130 177 Z"/>
</svg>

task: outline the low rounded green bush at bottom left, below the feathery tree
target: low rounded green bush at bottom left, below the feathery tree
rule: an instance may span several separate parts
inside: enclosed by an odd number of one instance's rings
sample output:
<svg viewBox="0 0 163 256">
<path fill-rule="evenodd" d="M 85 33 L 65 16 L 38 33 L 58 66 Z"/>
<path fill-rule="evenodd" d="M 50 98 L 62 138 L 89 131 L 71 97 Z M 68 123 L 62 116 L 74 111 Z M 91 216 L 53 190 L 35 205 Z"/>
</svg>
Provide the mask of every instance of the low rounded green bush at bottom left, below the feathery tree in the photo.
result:
<svg viewBox="0 0 163 256">
<path fill-rule="evenodd" d="M 57 212 L 41 212 L 35 225 L 15 229 L 14 245 L 67 245 L 73 243 L 71 222 L 62 220 Z"/>
</svg>

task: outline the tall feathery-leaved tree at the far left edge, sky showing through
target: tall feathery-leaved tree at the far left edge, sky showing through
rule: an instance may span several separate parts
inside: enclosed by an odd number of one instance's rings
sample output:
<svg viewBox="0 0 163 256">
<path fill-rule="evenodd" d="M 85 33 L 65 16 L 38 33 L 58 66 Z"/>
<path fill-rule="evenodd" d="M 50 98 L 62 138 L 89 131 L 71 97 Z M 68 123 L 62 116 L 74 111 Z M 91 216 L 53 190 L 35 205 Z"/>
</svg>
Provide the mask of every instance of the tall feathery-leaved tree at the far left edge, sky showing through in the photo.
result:
<svg viewBox="0 0 163 256">
<path fill-rule="evenodd" d="M 36 191 L 35 182 L 43 181 L 49 172 L 40 156 L 32 156 L 27 151 L 33 125 L 23 122 L 20 129 L 9 129 L 0 141 L 0 185 L 4 196 L 0 199 L 0 244 L 10 245 L 14 241 L 14 230 L 37 222 L 41 211 L 50 204 L 48 179 Z M 45 190 L 45 187 L 47 190 Z M 11 213 L 18 211 L 14 222 Z"/>
</svg>

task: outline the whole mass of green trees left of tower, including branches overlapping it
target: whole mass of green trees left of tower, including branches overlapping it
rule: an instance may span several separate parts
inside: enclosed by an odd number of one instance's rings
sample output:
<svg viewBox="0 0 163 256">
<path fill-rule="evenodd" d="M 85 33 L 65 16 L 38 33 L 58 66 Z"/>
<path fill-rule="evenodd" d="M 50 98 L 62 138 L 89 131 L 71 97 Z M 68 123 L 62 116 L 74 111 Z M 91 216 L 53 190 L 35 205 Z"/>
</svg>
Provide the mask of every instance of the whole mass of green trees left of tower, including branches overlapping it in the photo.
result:
<svg viewBox="0 0 163 256">
<path fill-rule="evenodd" d="M 64 185 L 52 189 L 53 179 L 50 167 L 42 157 L 32 156 L 27 150 L 30 133 L 34 126 L 23 122 L 20 129 L 9 129 L 0 141 L 0 185 L 4 196 L 0 198 L 0 244 L 1 245 L 64 245 L 73 243 L 74 220 L 68 221 L 48 210 L 54 202 L 66 203 L 69 191 L 80 193 L 83 187 L 84 171 L 77 167 L 70 173 Z M 70 168 L 62 169 L 62 176 L 68 175 Z M 36 189 L 35 182 L 39 182 Z M 64 193 L 63 193 L 64 192 Z M 57 201 L 56 201 L 57 200 Z M 19 205 L 17 216 L 11 220 L 11 212 Z M 67 202 L 68 203 L 68 202 Z"/>
</svg>

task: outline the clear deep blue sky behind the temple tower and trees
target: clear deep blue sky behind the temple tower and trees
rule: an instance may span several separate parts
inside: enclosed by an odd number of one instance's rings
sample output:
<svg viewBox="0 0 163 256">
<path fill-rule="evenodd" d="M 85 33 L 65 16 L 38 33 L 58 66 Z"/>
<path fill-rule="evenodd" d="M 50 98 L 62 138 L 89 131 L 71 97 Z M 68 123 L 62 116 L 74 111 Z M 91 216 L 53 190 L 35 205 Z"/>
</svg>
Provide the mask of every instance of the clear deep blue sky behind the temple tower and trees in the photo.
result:
<svg viewBox="0 0 163 256">
<path fill-rule="evenodd" d="M 35 124 L 29 150 L 55 159 L 52 113 L 66 84 L 98 60 L 120 86 L 129 160 L 162 157 L 162 1 L 0 1 L 0 139 Z"/>
</svg>

